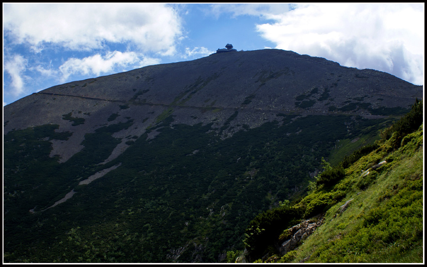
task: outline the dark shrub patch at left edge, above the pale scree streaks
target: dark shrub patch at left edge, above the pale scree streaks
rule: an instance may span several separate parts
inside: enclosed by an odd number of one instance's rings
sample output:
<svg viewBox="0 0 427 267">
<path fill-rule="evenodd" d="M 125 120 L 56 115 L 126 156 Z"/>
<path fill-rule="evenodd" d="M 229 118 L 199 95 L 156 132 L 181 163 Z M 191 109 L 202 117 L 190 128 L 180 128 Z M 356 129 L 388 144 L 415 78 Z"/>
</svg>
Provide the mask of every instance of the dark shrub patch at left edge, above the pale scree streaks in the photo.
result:
<svg viewBox="0 0 427 267">
<path fill-rule="evenodd" d="M 57 156 L 50 157 L 49 141 L 67 140 L 72 134 L 55 132 L 58 125 L 46 124 L 5 135 L 4 208 L 8 211 L 5 236 L 8 229 L 22 227 L 34 219 L 28 216 L 29 209 L 40 211 L 53 205 L 61 198 L 58 196 L 64 196 L 78 184 L 81 176 L 103 169 L 98 164 L 120 143 L 112 137 L 113 133 L 131 125 L 132 121 L 113 124 L 86 134 L 84 148 L 64 164 L 58 163 Z M 22 224 L 15 225 L 17 222 Z"/>
</svg>

